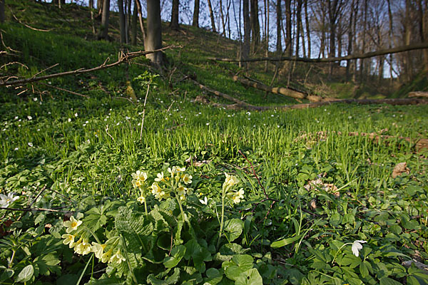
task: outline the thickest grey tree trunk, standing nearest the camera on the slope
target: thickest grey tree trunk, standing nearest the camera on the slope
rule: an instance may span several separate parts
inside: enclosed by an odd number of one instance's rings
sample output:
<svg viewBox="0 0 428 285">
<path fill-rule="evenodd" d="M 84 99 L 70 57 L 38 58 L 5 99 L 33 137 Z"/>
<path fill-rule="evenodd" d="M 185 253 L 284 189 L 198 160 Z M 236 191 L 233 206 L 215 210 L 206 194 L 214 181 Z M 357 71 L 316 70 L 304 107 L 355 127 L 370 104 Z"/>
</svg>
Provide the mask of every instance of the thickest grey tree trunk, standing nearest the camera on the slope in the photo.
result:
<svg viewBox="0 0 428 285">
<path fill-rule="evenodd" d="M 144 40 L 144 50 L 154 51 L 162 48 L 161 1 L 147 0 L 147 34 Z M 146 56 L 151 63 L 160 67 L 163 64 L 163 53 L 158 51 Z"/>
</svg>

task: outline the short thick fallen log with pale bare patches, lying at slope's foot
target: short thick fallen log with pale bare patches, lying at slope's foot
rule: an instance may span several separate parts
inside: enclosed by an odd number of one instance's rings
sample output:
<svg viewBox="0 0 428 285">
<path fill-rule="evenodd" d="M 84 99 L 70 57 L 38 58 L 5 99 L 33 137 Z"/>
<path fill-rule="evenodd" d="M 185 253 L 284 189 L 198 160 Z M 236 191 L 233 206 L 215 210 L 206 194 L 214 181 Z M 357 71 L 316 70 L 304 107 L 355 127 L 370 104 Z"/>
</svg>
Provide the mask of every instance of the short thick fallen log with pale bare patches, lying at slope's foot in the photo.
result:
<svg viewBox="0 0 428 285">
<path fill-rule="evenodd" d="M 257 83 L 254 81 L 250 81 L 248 79 L 239 78 L 238 76 L 233 76 L 233 81 L 238 81 L 241 84 L 245 86 L 250 86 L 259 90 L 263 90 L 270 93 L 285 95 L 287 97 L 295 98 L 295 99 L 308 99 L 311 102 L 322 102 L 327 101 L 328 99 L 322 98 L 317 95 L 310 95 L 305 92 L 301 92 L 298 90 L 293 90 L 291 88 L 285 88 L 285 87 L 270 87 L 267 85 L 264 85 L 262 83 Z"/>
</svg>

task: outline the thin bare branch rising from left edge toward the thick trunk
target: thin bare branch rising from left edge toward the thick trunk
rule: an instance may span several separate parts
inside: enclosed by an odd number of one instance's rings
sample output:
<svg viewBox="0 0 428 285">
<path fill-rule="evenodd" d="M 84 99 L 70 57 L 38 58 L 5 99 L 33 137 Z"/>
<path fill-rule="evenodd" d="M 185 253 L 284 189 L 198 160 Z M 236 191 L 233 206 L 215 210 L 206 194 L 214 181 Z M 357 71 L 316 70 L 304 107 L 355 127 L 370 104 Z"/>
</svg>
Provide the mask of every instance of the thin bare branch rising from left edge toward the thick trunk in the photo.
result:
<svg viewBox="0 0 428 285">
<path fill-rule="evenodd" d="M 40 76 L 40 77 L 35 77 L 35 78 L 25 78 L 25 79 L 19 79 L 16 81 L 0 81 L 0 86 L 9 87 L 9 86 L 23 85 L 26 83 L 42 81 L 42 80 L 49 79 L 49 78 L 99 71 L 101 69 L 112 68 L 113 66 L 118 66 L 121 63 L 128 62 L 131 59 L 137 58 L 139 56 L 145 56 L 146 54 L 149 54 L 149 53 L 157 53 L 158 51 L 165 51 L 165 50 L 170 49 L 170 48 L 180 48 L 180 47 L 181 46 L 165 46 L 165 48 L 159 48 L 159 49 L 156 49 L 154 51 L 135 51 L 135 52 L 131 52 L 131 53 L 121 52 L 121 53 L 119 53 L 118 61 L 116 61 L 114 63 L 106 64 L 110 60 L 110 58 L 106 58 L 106 61 L 104 61 L 104 63 L 101 64 L 101 66 L 97 66 L 94 68 L 88 68 L 88 69 L 79 68 L 79 69 L 76 69 L 75 71 L 66 71 L 66 72 L 61 72 L 61 73 L 54 73 L 54 74 L 49 74 L 47 76 Z"/>
</svg>

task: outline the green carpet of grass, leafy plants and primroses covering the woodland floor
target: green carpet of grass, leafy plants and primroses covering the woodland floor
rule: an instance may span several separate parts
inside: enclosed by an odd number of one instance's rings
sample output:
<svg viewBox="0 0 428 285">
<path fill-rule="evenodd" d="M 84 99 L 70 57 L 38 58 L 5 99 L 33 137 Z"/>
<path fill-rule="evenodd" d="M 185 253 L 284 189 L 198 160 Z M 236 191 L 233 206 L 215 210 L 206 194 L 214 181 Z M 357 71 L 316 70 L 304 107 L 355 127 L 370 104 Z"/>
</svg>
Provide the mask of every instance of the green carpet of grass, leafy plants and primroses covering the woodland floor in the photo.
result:
<svg viewBox="0 0 428 285">
<path fill-rule="evenodd" d="M 119 51 L 83 30 L 2 28 L 21 76 Z M 252 104 L 292 101 L 203 52 L 166 51 L 180 66 L 167 75 L 139 59 L 46 82 L 89 98 L 1 89 L 0 283 L 427 284 L 414 261 L 428 259 L 428 152 L 399 138 L 428 137 L 427 106 L 211 108 L 185 74 Z"/>
</svg>

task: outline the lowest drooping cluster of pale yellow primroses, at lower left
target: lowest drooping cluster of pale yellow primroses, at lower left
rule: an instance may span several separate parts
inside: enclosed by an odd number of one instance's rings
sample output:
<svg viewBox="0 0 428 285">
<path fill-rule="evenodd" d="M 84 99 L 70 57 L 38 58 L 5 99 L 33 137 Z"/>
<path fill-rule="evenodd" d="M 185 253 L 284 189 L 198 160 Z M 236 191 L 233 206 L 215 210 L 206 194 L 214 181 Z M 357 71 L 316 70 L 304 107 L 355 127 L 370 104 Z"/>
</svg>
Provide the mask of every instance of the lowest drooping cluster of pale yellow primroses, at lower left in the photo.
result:
<svg viewBox="0 0 428 285">
<path fill-rule="evenodd" d="M 125 261 L 125 257 L 123 257 L 121 249 L 118 247 L 119 237 L 112 237 L 104 244 L 101 244 L 98 238 L 82 223 L 81 220 L 73 216 L 70 217 L 69 221 L 63 222 L 63 226 L 66 227 L 66 234 L 62 235 L 63 244 L 68 244 L 68 247 L 74 249 L 76 254 L 86 255 L 93 252 L 95 257 L 103 263 L 120 264 Z M 97 242 L 89 243 L 91 235 L 95 237 Z"/>
</svg>

